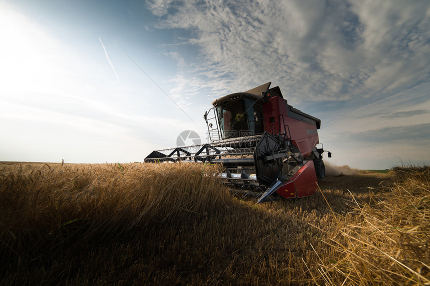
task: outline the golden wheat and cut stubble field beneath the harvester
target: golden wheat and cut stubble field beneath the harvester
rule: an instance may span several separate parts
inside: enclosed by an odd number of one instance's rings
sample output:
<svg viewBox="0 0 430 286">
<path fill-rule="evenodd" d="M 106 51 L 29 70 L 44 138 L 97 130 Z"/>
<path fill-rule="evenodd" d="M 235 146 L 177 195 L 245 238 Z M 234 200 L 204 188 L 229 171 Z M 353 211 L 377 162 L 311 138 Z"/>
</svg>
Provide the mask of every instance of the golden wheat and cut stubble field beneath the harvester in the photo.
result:
<svg viewBox="0 0 430 286">
<path fill-rule="evenodd" d="M 232 197 L 203 164 L 0 162 L 0 284 L 430 284 L 430 168 Z"/>
</svg>

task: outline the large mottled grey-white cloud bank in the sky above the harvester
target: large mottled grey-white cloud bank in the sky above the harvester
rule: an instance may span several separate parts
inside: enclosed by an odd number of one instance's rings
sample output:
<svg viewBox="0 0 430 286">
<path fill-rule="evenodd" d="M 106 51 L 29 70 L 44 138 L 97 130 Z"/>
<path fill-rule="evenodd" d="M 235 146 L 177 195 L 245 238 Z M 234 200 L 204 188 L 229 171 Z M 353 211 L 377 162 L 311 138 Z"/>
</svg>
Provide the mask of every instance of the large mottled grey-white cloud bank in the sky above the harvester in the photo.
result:
<svg viewBox="0 0 430 286">
<path fill-rule="evenodd" d="M 290 98 L 347 100 L 430 80 L 429 2 L 334 2 L 150 0 L 148 7 L 160 16 L 158 28 L 191 32 L 187 42 L 203 60 L 194 75 L 214 89 L 272 81 Z"/>
</svg>

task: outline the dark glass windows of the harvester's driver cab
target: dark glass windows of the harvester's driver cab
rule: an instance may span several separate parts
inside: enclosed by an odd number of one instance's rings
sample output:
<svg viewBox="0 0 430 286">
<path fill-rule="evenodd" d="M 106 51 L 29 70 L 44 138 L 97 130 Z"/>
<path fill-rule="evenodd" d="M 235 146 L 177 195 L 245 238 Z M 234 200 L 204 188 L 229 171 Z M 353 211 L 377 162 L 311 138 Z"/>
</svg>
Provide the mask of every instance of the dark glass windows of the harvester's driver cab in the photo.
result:
<svg viewBox="0 0 430 286">
<path fill-rule="evenodd" d="M 216 113 L 224 139 L 263 132 L 261 106 L 253 98 L 224 101 L 216 107 Z"/>
</svg>

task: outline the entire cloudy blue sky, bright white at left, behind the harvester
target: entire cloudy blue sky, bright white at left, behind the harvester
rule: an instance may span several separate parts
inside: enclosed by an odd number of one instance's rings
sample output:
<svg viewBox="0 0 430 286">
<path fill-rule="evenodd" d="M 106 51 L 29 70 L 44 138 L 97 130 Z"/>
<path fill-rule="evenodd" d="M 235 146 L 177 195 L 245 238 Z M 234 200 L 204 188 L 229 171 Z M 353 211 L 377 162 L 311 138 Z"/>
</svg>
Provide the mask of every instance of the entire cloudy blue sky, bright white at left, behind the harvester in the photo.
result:
<svg viewBox="0 0 430 286">
<path fill-rule="evenodd" d="M 271 81 L 327 162 L 430 163 L 428 1 L 0 0 L 0 37 L 0 160 L 142 161 Z"/>
</svg>

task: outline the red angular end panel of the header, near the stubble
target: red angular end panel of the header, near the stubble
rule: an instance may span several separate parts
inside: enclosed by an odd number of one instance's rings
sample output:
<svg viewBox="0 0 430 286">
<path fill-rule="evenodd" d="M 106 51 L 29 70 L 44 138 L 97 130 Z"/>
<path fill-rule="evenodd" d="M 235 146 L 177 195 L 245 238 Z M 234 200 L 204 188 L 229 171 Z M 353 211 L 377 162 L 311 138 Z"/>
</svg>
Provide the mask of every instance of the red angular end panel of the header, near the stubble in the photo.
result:
<svg viewBox="0 0 430 286">
<path fill-rule="evenodd" d="M 276 192 L 285 197 L 303 197 L 315 193 L 318 188 L 313 161 L 307 161 L 289 181 L 280 186 Z"/>
</svg>

